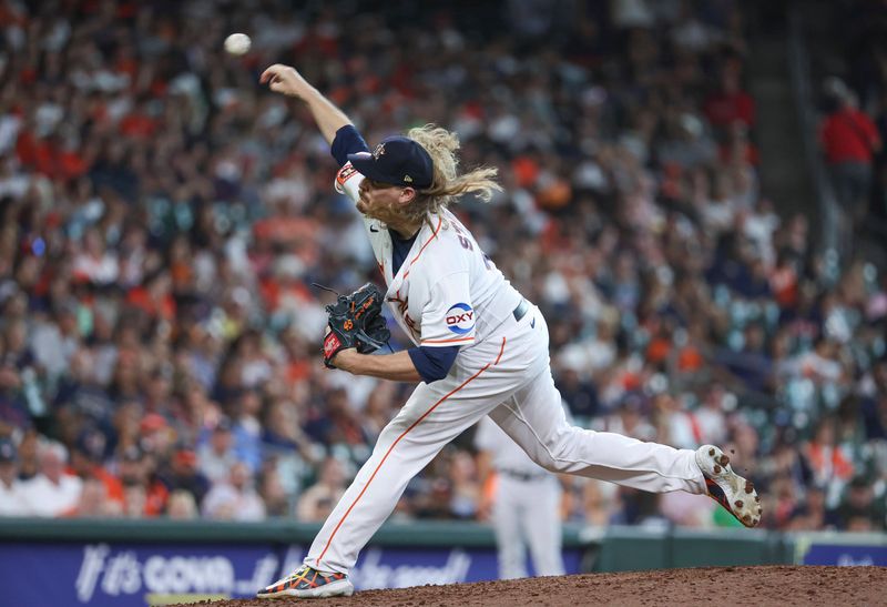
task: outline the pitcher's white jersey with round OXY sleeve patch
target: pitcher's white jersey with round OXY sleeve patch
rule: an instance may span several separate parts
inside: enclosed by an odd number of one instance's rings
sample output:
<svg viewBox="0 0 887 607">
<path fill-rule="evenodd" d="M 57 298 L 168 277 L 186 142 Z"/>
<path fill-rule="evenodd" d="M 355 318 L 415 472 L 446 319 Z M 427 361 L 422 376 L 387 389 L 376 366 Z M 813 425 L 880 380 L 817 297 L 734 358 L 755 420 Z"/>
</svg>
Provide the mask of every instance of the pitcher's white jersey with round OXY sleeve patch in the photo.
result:
<svg viewBox="0 0 887 607">
<path fill-rule="evenodd" d="M 349 163 L 336 176 L 336 190 L 354 202 L 364 176 Z M 470 346 L 490 335 L 521 295 L 449 211 L 429 214 L 409 255 L 392 274 L 391 235 L 378 220 L 364 217 L 386 301 L 416 345 Z"/>
</svg>

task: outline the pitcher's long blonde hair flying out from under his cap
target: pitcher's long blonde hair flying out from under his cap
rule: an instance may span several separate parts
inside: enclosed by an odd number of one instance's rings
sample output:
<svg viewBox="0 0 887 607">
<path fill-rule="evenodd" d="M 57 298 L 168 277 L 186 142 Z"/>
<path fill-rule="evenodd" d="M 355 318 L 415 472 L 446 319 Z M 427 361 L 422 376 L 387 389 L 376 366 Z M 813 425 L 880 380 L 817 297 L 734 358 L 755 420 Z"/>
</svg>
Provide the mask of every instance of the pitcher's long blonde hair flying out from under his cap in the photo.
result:
<svg viewBox="0 0 887 607">
<path fill-rule="evenodd" d="M 436 124 L 417 127 L 407 136 L 426 149 L 435 163 L 431 186 L 419 190 L 416 200 L 406 205 L 402 213 L 410 219 L 421 220 L 427 213 L 437 213 L 467 193 L 476 194 L 483 202 L 492 199 L 495 191 L 502 191 L 496 181 L 496 168 L 481 166 L 465 174 L 458 173 L 459 135 Z"/>
</svg>

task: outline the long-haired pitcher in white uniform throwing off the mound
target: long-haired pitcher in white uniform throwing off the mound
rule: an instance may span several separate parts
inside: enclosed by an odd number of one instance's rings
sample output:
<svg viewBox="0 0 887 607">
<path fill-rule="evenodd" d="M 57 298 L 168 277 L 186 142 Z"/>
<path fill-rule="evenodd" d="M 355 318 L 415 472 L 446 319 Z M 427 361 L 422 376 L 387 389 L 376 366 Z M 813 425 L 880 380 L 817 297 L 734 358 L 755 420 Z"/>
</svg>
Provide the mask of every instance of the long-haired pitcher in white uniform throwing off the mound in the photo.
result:
<svg viewBox="0 0 887 607">
<path fill-rule="evenodd" d="M 367 354 L 380 337 L 374 335 L 375 312 L 356 304 L 368 301 L 363 294 L 345 306 L 355 317 L 332 320 L 325 362 L 417 387 L 379 435 L 304 565 L 257 596 L 353 594 L 348 571 L 407 483 L 486 415 L 546 469 L 649 492 L 708 494 L 744 525 L 757 525 L 754 487 L 733 472 L 720 448 L 675 449 L 567 422 L 549 368 L 546 320 L 448 209 L 469 192 L 489 200 L 499 189 L 495 169 L 459 173 L 457 136 L 434 125 L 370 148 L 345 113 L 288 65 L 271 65 L 261 82 L 307 104 L 341 166 L 336 190 L 364 215 L 385 303 L 415 344 L 394 354 Z M 357 310 L 365 313 L 357 317 Z"/>
</svg>

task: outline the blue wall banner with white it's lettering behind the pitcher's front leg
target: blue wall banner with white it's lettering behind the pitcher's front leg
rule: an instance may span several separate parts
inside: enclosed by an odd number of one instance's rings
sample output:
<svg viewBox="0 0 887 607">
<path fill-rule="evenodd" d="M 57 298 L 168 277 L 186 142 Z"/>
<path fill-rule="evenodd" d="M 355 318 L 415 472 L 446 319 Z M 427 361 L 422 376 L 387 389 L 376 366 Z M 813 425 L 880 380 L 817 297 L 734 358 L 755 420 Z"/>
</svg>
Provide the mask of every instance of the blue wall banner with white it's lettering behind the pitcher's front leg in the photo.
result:
<svg viewBox="0 0 887 607">
<path fill-rule="evenodd" d="M 303 546 L 242 544 L 0 544 L 3 605 L 145 607 L 252 597 L 300 564 Z M 564 550 L 567 573 L 580 552 Z M 492 548 L 370 546 L 351 571 L 356 589 L 497 578 Z"/>
</svg>

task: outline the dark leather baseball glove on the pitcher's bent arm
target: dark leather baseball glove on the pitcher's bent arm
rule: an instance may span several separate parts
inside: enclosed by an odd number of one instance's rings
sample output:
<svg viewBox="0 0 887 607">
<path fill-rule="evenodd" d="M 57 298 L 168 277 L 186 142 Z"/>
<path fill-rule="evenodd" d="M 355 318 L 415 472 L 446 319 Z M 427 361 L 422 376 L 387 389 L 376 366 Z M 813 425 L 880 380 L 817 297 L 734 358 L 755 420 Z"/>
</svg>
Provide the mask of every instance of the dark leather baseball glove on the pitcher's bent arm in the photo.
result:
<svg viewBox="0 0 887 607">
<path fill-rule="evenodd" d="M 329 331 L 324 337 L 324 364 L 341 350 L 356 347 L 360 354 L 380 348 L 391 338 L 391 332 L 381 315 L 385 295 L 373 283 L 367 283 L 350 295 L 339 295 L 335 304 L 326 306 Z"/>
</svg>

